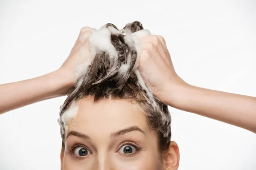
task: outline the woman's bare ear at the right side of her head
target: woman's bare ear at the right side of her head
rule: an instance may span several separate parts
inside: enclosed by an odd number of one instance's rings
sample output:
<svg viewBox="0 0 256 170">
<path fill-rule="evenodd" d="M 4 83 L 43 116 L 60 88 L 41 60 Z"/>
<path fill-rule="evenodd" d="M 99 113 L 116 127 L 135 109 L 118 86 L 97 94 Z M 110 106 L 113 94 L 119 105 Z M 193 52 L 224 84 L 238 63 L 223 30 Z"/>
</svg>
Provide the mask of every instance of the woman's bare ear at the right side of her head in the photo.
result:
<svg viewBox="0 0 256 170">
<path fill-rule="evenodd" d="M 180 163 L 180 151 L 176 142 L 171 141 L 164 155 L 164 170 L 177 170 Z"/>
</svg>

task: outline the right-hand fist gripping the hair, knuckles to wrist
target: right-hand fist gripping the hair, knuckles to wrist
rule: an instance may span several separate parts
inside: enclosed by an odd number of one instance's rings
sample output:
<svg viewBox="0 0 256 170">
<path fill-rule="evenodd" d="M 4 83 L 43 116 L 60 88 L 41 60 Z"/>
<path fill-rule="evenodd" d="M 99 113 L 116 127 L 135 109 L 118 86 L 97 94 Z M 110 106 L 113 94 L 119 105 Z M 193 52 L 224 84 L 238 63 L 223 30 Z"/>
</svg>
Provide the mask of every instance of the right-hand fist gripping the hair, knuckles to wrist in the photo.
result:
<svg viewBox="0 0 256 170">
<path fill-rule="evenodd" d="M 139 62 L 140 73 L 153 94 L 161 102 L 167 104 L 169 89 L 186 85 L 175 72 L 166 42 L 163 37 L 149 35 L 140 37 L 141 56 Z M 175 86 L 175 87 L 174 87 Z"/>
</svg>

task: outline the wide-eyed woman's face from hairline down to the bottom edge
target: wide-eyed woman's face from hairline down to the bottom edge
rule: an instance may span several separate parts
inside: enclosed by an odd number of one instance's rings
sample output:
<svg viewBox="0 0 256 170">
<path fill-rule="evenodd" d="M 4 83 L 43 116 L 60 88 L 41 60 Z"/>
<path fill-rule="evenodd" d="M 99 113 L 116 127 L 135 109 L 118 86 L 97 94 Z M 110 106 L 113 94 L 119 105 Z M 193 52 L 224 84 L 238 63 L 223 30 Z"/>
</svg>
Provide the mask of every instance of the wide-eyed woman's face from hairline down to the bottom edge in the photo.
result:
<svg viewBox="0 0 256 170">
<path fill-rule="evenodd" d="M 66 130 L 64 170 L 163 170 L 157 138 L 137 104 L 92 98 Z"/>
</svg>

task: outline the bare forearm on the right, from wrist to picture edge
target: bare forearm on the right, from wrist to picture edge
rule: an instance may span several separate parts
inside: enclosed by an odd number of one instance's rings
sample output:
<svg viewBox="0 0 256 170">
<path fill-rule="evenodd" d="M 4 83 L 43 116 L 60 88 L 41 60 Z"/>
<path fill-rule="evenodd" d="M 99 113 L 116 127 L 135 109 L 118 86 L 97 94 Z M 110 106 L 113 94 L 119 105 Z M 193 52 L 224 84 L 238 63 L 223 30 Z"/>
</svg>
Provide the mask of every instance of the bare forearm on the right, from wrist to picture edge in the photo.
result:
<svg viewBox="0 0 256 170">
<path fill-rule="evenodd" d="M 168 105 L 256 133 L 256 98 L 184 85 L 169 90 Z"/>
</svg>

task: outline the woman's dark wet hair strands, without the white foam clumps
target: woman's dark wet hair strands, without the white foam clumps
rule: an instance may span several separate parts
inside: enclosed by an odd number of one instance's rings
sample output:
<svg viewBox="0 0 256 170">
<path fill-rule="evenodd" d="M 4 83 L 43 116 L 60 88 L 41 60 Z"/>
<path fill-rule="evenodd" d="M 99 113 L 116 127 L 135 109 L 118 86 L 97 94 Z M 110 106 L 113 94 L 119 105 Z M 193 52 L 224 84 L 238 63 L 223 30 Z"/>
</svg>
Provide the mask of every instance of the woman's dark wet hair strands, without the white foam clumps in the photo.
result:
<svg viewBox="0 0 256 170">
<path fill-rule="evenodd" d="M 106 28 L 116 26 L 111 23 L 105 25 Z M 143 29 L 139 21 L 128 23 L 124 30 L 133 33 Z M 154 104 L 149 101 L 148 91 L 140 86 L 138 77 L 132 72 L 137 59 L 137 51 L 134 46 L 125 42 L 123 34 L 111 33 L 111 43 L 116 49 L 117 59 L 111 64 L 110 54 L 106 51 L 97 51 L 89 70 L 78 80 L 78 85 L 68 95 L 61 106 L 59 123 L 61 125 L 62 149 L 65 147 L 65 128 L 61 116 L 70 107 L 71 102 L 93 96 L 94 102 L 102 99 L 128 99 L 136 102 L 143 108 L 149 127 L 156 132 L 160 151 L 166 151 L 171 142 L 171 116 L 167 105 L 163 104 L 157 97 L 152 95 Z M 128 63 L 129 60 L 129 63 Z M 122 65 L 128 68 L 121 70 Z M 122 72 L 122 74 L 120 74 Z"/>
</svg>

